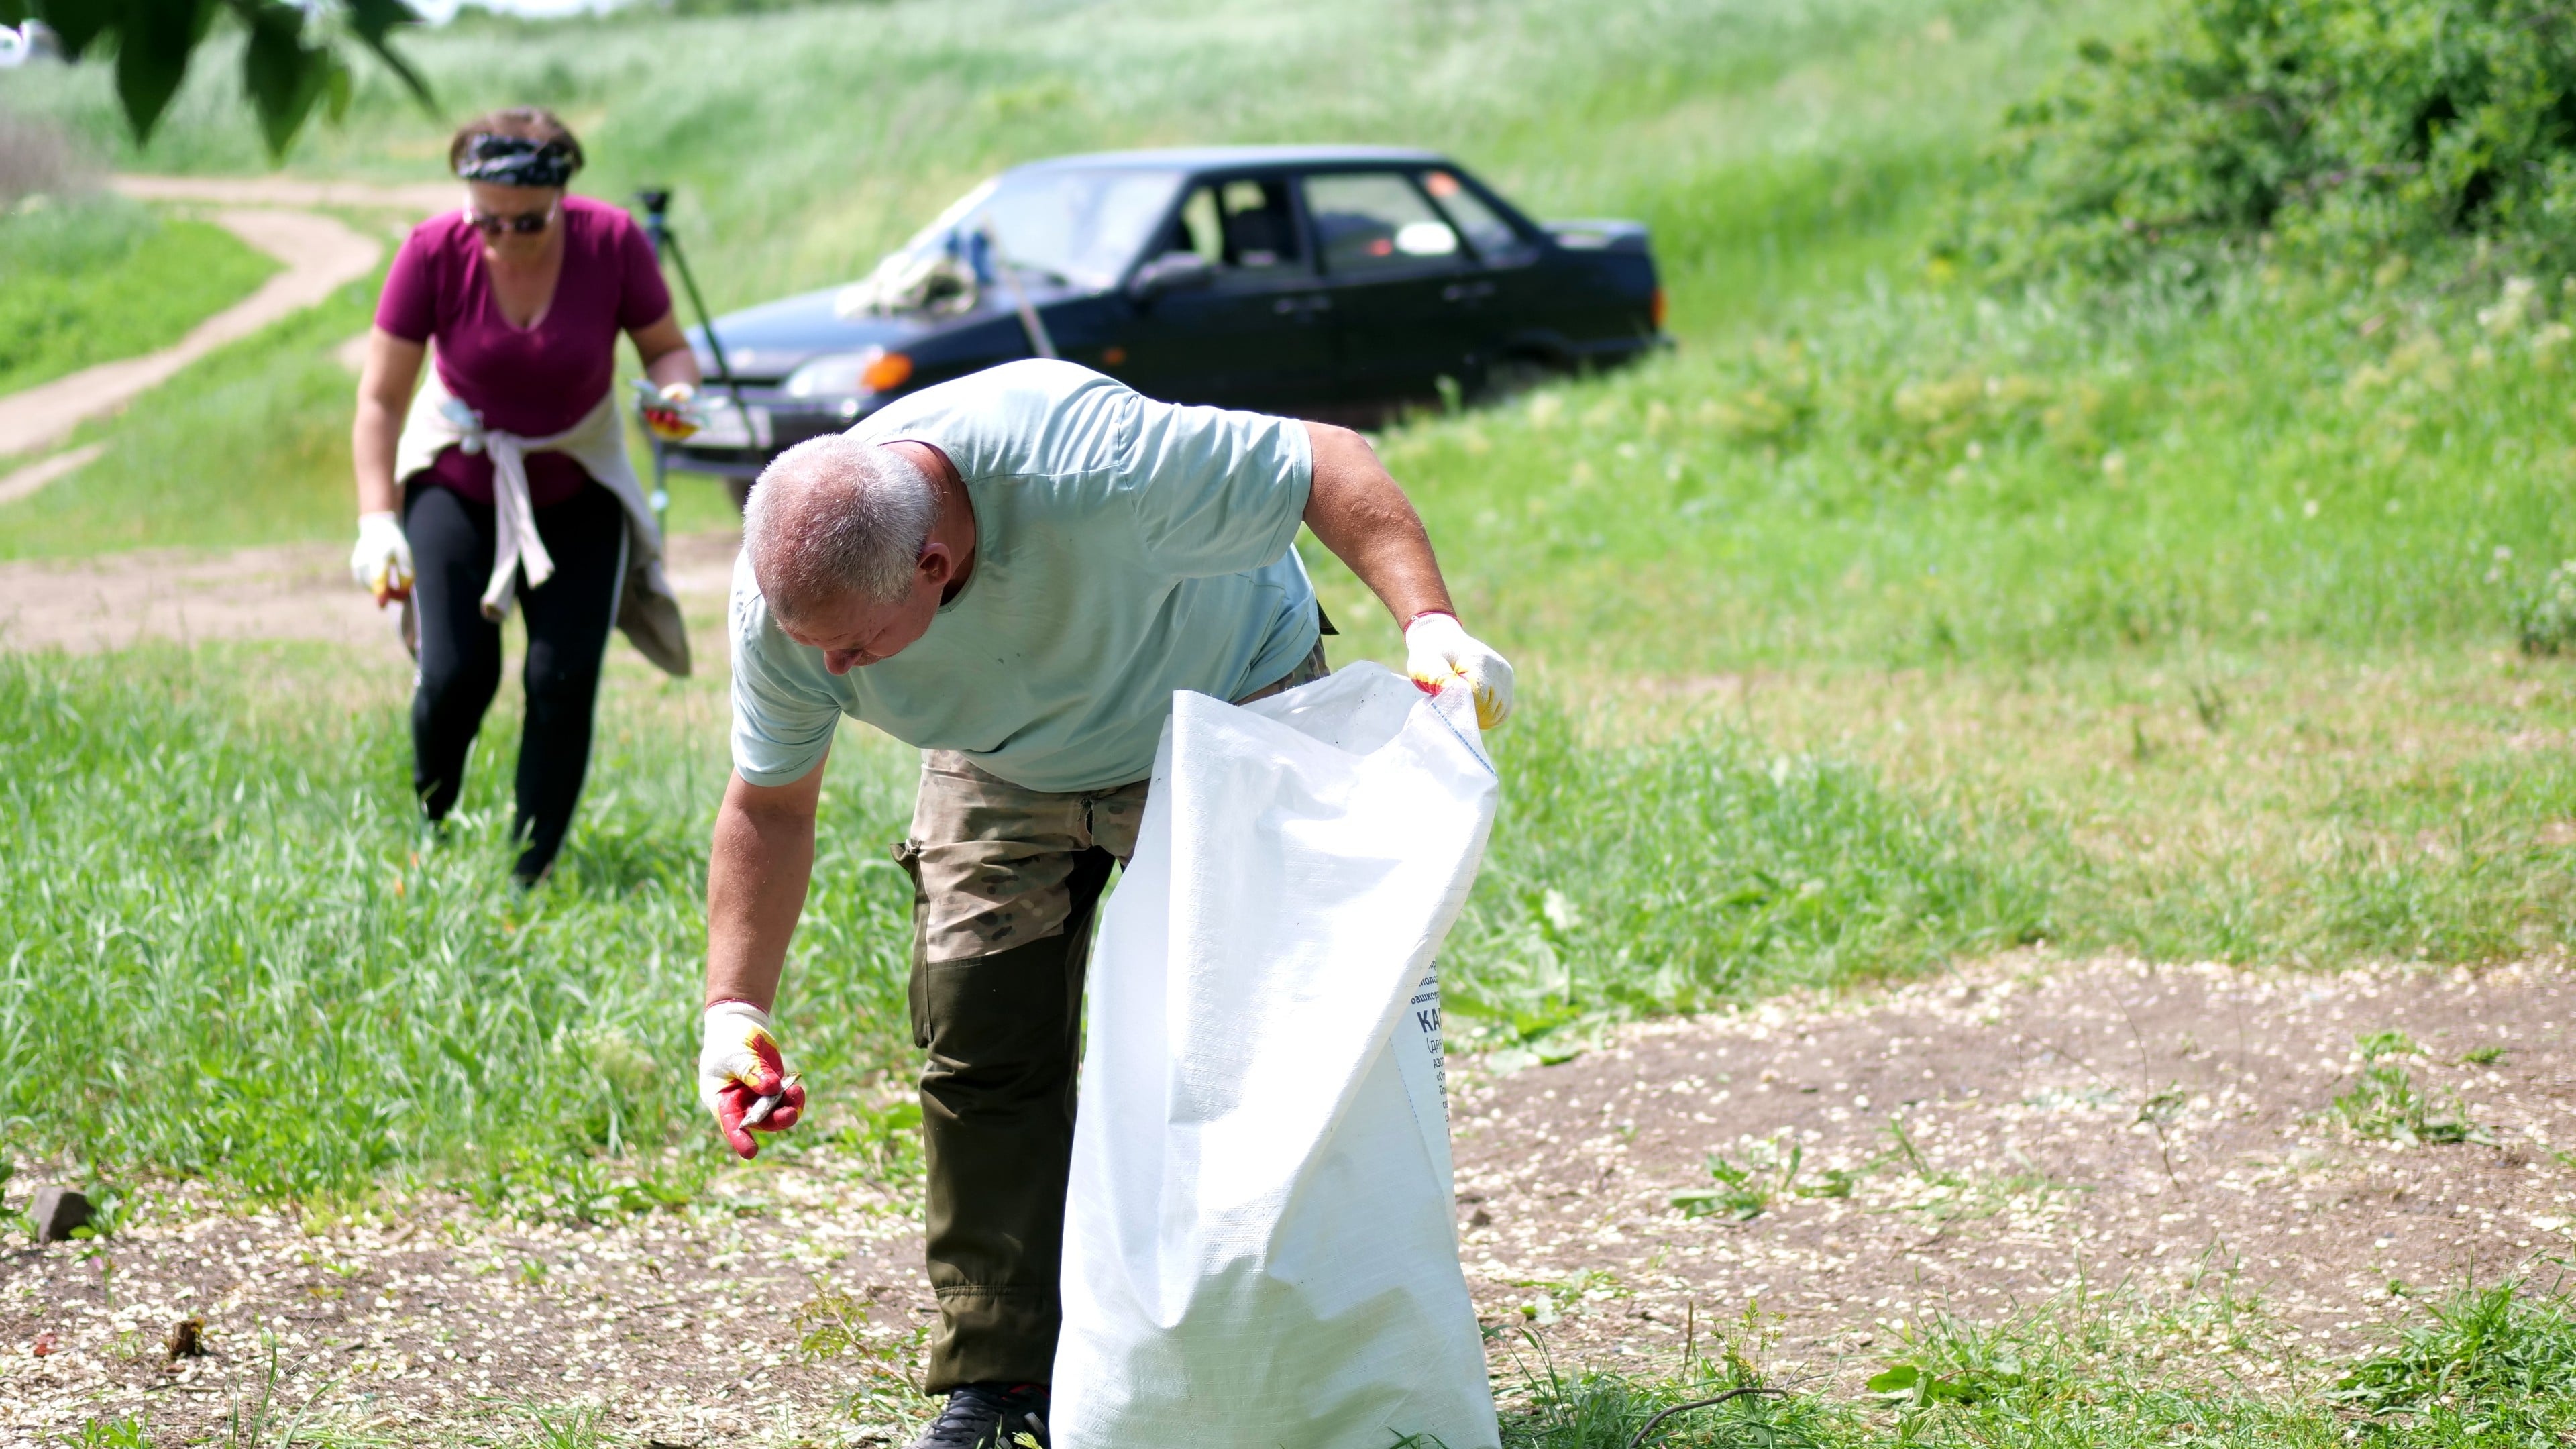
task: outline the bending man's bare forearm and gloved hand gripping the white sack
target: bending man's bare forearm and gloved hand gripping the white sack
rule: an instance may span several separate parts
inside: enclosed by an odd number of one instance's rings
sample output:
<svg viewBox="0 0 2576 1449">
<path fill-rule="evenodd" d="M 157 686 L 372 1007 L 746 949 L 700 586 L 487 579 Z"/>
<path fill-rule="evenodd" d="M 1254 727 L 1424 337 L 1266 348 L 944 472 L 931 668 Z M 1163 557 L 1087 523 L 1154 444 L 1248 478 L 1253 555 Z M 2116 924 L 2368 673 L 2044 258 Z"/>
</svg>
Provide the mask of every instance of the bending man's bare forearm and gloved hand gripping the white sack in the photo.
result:
<svg viewBox="0 0 2576 1449">
<path fill-rule="evenodd" d="M 1378 462 L 1368 438 L 1329 423 L 1306 423 L 1314 487 L 1306 526 L 1350 565 L 1404 629 L 1404 665 L 1425 691 L 1463 681 L 1476 691 L 1476 724 L 1492 730 L 1512 712 L 1512 665 L 1458 624 L 1440 559 L 1422 516 Z"/>
</svg>

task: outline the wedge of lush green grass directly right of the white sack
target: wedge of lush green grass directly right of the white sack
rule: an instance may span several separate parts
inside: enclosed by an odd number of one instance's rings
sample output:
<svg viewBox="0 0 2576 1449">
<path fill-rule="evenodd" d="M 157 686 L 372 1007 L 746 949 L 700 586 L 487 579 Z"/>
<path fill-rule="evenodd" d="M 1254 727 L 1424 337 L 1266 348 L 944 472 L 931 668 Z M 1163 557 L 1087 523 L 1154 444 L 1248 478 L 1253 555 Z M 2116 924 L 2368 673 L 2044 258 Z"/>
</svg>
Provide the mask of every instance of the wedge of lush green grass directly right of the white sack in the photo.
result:
<svg viewBox="0 0 2576 1449">
<path fill-rule="evenodd" d="M 1535 1036 L 2053 933 L 2045 871 L 1850 761 L 1602 743 L 1546 704 L 1497 748 L 1504 812 L 1443 980 L 1466 1021 Z"/>
</svg>

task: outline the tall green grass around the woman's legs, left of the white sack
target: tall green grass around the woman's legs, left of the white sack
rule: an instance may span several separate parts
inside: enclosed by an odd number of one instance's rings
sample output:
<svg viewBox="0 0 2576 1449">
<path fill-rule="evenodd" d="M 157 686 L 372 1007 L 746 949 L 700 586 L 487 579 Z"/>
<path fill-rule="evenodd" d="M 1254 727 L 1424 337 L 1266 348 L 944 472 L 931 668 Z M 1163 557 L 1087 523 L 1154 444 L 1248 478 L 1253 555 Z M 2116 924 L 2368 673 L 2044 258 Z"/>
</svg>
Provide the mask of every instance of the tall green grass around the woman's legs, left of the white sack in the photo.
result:
<svg viewBox="0 0 2576 1449">
<path fill-rule="evenodd" d="M 13 1147 L 258 1194 L 670 1171 L 662 1147 L 703 1137 L 685 1078 L 714 735 L 608 730 L 559 879 L 520 895 L 489 766 L 515 719 L 487 722 L 430 838 L 392 699 L 332 676 L 294 652 L 0 657 Z M 791 1039 L 848 1093 L 902 1021 L 909 890 L 863 861 L 902 802 L 845 755 Z"/>
</svg>

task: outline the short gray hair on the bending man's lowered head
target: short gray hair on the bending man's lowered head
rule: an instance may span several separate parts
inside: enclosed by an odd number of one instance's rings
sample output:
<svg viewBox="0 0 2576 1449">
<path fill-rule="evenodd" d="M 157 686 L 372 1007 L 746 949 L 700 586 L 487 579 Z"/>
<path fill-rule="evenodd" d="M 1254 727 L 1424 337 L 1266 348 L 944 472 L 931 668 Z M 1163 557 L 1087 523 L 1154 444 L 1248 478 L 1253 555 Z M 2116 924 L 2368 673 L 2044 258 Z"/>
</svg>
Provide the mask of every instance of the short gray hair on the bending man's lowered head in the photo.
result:
<svg viewBox="0 0 2576 1449">
<path fill-rule="evenodd" d="M 781 616 L 811 616 L 842 593 L 891 603 L 912 588 L 938 516 L 940 495 L 912 459 L 829 433 L 760 469 L 742 505 L 742 549 Z"/>
</svg>

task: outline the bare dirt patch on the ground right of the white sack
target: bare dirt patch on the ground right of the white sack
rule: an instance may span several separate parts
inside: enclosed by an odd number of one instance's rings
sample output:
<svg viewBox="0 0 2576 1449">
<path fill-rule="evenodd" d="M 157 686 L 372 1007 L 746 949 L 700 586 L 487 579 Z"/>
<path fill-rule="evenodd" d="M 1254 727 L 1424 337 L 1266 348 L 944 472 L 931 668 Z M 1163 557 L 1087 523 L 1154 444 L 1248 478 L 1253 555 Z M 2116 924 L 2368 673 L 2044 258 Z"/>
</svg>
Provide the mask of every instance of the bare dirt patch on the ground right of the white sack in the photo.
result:
<svg viewBox="0 0 2576 1449">
<path fill-rule="evenodd" d="M 1540 1336 L 1574 1359 L 1669 1359 L 1687 1318 L 1759 1302 L 1790 1359 L 1875 1361 L 1891 1325 L 1932 1312 L 1996 1320 L 2079 1284 L 2172 1297 L 2226 1274 L 2262 1297 L 2277 1346 L 2349 1351 L 2414 1310 L 2403 1294 L 2566 1250 L 2571 1029 L 2558 964 L 2117 962 L 1646 1024 L 1461 1088 L 1468 1279 L 1489 1323 L 1553 1318 Z M 2339 1127 L 2372 1031 L 2419 1042 L 2383 1062 L 2494 1145 Z M 1801 1176 L 1777 1191 L 1790 1147 Z M 1723 1191 L 1710 1152 L 1772 1186 L 1757 1217 L 1672 1207 Z"/>
</svg>

